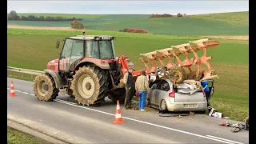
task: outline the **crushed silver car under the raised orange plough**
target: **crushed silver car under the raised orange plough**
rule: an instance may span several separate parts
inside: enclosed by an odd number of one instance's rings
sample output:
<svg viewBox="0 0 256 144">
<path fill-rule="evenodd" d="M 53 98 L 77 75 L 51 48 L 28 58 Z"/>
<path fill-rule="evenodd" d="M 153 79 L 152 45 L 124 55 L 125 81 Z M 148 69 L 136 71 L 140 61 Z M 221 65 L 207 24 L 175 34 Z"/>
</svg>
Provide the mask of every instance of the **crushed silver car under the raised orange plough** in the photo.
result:
<svg viewBox="0 0 256 144">
<path fill-rule="evenodd" d="M 208 80 L 210 96 L 214 94 L 214 81 Z M 162 111 L 197 111 L 204 114 L 207 110 L 206 94 L 192 84 L 181 83 L 174 87 L 169 79 L 161 78 L 150 83 L 146 105 Z"/>
</svg>

